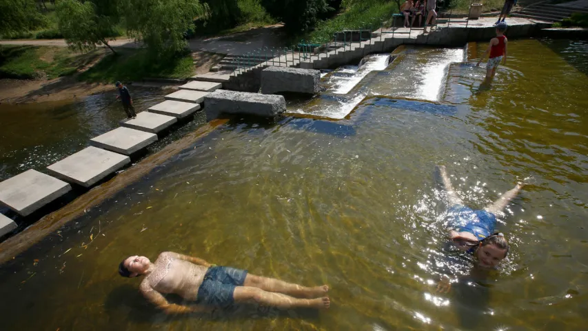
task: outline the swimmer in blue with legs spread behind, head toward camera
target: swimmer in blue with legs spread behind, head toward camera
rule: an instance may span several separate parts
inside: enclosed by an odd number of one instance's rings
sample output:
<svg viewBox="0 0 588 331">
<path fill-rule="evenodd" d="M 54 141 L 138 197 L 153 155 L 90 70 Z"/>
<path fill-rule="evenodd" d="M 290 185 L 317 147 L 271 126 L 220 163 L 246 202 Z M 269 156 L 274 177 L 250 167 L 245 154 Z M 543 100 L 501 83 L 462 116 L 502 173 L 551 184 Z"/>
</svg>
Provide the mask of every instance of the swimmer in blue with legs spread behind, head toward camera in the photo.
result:
<svg viewBox="0 0 588 331">
<path fill-rule="evenodd" d="M 447 212 L 447 230 L 449 240 L 464 252 L 471 253 L 480 268 L 491 269 L 507 257 L 509 245 L 504 234 L 494 232 L 496 228 L 496 214 L 503 213 L 508 203 L 516 197 L 523 183 L 518 183 L 498 200 L 488 205 L 484 210 L 473 210 L 466 207 L 454 190 L 445 165 L 439 165 L 441 179 L 447 190 L 449 210 Z M 438 285 L 440 292 L 449 291 L 450 283 L 444 278 Z"/>
</svg>

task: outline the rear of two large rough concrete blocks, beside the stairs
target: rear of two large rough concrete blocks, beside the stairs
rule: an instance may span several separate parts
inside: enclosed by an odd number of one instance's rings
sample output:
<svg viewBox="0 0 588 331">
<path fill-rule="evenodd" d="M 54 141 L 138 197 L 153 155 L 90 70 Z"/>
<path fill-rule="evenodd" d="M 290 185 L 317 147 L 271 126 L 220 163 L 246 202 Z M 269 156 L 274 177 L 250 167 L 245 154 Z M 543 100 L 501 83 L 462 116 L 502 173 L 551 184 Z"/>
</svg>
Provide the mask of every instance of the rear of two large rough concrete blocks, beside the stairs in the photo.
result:
<svg viewBox="0 0 588 331">
<path fill-rule="evenodd" d="M 318 70 L 268 67 L 261 72 L 261 90 L 263 94 L 276 92 L 297 92 L 315 94 L 319 92 L 318 81 L 321 72 Z"/>
</svg>

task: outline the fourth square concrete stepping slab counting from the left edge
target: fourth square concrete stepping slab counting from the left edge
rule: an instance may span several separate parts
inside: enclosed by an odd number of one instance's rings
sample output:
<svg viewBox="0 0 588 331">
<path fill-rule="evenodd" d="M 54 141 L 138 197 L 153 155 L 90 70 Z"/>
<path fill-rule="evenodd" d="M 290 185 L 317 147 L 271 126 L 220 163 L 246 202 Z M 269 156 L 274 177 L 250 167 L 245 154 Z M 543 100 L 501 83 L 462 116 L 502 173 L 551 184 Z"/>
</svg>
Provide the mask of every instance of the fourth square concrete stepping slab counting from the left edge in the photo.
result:
<svg viewBox="0 0 588 331">
<path fill-rule="evenodd" d="M 130 155 L 155 141 L 157 134 L 121 127 L 92 138 L 90 145 Z"/>
</svg>

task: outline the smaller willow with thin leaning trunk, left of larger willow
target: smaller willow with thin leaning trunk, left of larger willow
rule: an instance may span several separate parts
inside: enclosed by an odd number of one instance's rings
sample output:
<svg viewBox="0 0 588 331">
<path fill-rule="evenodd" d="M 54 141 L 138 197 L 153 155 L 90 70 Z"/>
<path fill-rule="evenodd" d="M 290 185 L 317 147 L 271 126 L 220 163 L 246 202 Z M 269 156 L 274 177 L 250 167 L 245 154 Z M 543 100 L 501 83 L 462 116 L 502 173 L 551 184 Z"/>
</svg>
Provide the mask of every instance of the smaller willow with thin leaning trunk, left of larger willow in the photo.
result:
<svg viewBox="0 0 588 331">
<path fill-rule="evenodd" d="M 108 1 L 94 3 L 92 1 L 60 0 L 57 2 L 57 19 L 59 30 L 71 48 L 92 50 L 104 45 L 116 54 L 108 44 L 116 35 L 114 30 L 119 21 L 118 13 L 108 12 L 105 8 Z M 100 9 L 99 9 L 100 8 Z"/>
</svg>

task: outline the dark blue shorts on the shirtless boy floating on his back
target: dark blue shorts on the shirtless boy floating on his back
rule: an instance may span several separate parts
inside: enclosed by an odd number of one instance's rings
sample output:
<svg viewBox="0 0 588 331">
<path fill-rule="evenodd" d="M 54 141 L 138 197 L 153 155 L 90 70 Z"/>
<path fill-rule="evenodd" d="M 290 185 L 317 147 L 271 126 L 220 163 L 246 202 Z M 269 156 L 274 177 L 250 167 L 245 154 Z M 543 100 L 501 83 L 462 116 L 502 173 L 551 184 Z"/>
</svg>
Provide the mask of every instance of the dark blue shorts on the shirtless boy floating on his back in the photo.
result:
<svg viewBox="0 0 588 331">
<path fill-rule="evenodd" d="M 228 307 L 234 303 L 236 286 L 243 286 L 247 270 L 229 267 L 210 267 L 198 289 L 197 303 Z"/>
</svg>

